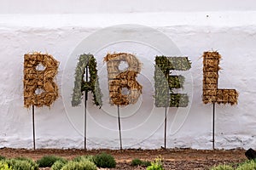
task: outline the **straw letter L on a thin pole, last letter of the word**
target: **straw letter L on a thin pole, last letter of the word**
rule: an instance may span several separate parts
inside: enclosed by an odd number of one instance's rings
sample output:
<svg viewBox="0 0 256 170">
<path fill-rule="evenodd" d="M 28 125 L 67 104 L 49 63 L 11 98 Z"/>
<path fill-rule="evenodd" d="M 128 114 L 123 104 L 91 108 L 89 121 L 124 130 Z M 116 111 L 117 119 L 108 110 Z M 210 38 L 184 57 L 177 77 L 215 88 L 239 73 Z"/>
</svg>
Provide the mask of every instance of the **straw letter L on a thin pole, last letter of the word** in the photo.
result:
<svg viewBox="0 0 256 170">
<path fill-rule="evenodd" d="M 218 89 L 218 70 L 221 55 L 218 52 L 205 52 L 203 54 L 203 96 L 205 104 L 237 104 L 238 93 L 236 89 Z"/>
</svg>

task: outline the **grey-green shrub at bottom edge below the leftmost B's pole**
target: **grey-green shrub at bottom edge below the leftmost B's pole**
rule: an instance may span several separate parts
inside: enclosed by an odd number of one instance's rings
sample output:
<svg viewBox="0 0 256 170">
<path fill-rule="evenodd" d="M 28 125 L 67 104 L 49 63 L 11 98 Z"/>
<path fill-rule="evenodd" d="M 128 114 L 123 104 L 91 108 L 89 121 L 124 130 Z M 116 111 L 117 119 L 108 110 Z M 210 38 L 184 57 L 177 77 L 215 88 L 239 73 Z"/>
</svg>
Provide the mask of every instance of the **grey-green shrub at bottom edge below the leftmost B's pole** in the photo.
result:
<svg viewBox="0 0 256 170">
<path fill-rule="evenodd" d="M 13 170 L 36 170 L 29 161 L 8 159 L 5 160 L 5 162 L 9 167 L 12 167 Z"/>
</svg>

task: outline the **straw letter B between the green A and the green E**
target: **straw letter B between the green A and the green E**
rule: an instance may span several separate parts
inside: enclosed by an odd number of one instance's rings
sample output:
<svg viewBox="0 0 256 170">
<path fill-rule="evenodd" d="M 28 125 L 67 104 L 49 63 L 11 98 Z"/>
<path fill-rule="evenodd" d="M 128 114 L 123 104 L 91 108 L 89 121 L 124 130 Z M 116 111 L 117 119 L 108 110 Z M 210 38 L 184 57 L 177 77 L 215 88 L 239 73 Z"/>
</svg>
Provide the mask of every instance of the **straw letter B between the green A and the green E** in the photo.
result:
<svg viewBox="0 0 256 170">
<path fill-rule="evenodd" d="M 135 104 L 140 94 L 142 86 L 137 82 L 137 74 L 141 71 L 141 63 L 132 54 L 107 54 L 104 58 L 108 66 L 108 88 L 110 104 L 129 105 Z M 125 71 L 119 70 L 121 62 L 128 64 Z M 127 88 L 129 94 L 122 94 L 122 89 Z"/>
</svg>

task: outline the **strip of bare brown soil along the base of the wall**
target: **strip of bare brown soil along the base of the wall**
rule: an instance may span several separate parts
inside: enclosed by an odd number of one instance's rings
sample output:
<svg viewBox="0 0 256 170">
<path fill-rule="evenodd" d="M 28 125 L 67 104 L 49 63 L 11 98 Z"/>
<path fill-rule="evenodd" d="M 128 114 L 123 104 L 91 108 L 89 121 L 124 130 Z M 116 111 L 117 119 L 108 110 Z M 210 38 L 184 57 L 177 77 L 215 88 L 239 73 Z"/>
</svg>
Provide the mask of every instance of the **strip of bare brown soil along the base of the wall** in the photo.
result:
<svg viewBox="0 0 256 170">
<path fill-rule="evenodd" d="M 76 156 L 96 155 L 101 152 L 111 154 L 117 161 L 114 169 L 146 169 L 146 167 L 131 167 L 131 160 L 138 158 L 145 161 L 154 161 L 160 156 L 163 160 L 165 169 L 209 169 L 219 164 L 231 164 L 236 167 L 237 163 L 246 161 L 244 155 L 246 150 L 191 150 L 191 149 L 172 149 L 172 150 L 57 150 L 57 149 L 0 149 L 0 156 L 9 158 L 26 156 L 33 160 L 38 160 L 42 156 L 55 155 L 62 156 L 68 160 Z M 49 169 L 49 168 L 42 168 Z"/>
</svg>

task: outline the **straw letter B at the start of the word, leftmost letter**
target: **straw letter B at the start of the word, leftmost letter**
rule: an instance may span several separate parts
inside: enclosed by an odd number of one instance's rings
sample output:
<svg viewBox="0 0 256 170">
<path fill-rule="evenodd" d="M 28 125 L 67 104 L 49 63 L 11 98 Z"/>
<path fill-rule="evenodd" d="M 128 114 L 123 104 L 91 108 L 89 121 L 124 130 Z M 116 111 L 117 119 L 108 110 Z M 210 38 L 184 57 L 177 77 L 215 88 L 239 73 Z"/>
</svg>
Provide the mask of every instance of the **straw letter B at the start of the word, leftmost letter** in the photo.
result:
<svg viewBox="0 0 256 170">
<path fill-rule="evenodd" d="M 38 66 L 44 66 L 39 70 Z M 50 106 L 58 98 L 58 87 L 53 81 L 59 62 L 49 54 L 24 55 L 24 106 Z"/>
</svg>

